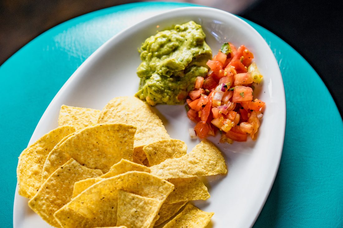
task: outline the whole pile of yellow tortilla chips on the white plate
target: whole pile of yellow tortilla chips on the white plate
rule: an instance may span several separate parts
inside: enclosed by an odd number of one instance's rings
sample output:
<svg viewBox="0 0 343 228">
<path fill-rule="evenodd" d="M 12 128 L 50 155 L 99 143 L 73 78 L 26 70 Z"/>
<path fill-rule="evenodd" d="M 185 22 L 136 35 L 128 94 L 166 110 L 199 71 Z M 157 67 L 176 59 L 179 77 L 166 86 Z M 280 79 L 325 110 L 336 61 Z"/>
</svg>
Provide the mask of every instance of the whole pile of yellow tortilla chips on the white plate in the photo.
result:
<svg viewBox="0 0 343 228">
<path fill-rule="evenodd" d="M 58 124 L 21 153 L 17 167 L 19 194 L 48 224 L 209 223 L 213 213 L 188 202 L 210 197 L 198 177 L 227 173 L 211 142 L 203 140 L 186 153 L 187 145 L 171 139 L 149 105 L 135 97 L 114 98 L 102 111 L 62 105 Z"/>
</svg>

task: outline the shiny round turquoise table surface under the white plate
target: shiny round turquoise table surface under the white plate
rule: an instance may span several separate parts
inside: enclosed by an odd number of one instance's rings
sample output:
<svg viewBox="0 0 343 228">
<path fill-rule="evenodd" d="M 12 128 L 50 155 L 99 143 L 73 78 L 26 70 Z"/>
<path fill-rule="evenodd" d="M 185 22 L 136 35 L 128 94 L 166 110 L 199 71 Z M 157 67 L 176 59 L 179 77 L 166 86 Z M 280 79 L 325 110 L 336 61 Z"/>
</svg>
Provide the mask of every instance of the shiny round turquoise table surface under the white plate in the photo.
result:
<svg viewBox="0 0 343 228">
<path fill-rule="evenodd" d="M 46 31 L 0 66 L 0 227 L 13 226 L 17 157 L 64 82 L 106 40 L 137 23 L 136 16 L 185 6 L 190 4 L 144 2 L 95 11 Z M 287 105 L 280 168 L 254 227 L 343 227 L 338 109 L 318 74 L 292 47 L 247 22 L 279 63 Z"/>
</svg>

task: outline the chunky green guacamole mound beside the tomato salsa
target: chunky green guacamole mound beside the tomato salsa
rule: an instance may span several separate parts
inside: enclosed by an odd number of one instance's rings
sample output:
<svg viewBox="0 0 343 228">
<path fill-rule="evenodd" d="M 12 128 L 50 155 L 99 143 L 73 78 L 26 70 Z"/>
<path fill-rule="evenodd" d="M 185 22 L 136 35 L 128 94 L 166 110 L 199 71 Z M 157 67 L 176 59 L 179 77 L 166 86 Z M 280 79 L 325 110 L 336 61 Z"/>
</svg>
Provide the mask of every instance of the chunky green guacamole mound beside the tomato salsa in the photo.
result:
<svg viewBox="0 0 343 228">
<path fill-rule="evenodd" d="M 145 40 L 136 96 L 150 105 L 183 104 L 198 76 L 208 73 L 212 51 L 201 25 L 190 21 L 164 30 Z"/>
</svg>

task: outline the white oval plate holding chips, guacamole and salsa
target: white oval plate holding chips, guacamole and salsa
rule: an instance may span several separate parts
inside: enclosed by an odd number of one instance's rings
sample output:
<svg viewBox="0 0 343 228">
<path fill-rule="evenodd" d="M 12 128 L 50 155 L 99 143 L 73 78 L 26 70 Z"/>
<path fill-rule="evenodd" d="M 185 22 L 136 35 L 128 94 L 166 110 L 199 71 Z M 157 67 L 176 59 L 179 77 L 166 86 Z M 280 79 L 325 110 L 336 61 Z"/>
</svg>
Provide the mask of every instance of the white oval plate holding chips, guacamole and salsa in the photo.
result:
<svg viewBox="0 0 343 228">
<path fill-rule="evenodd" d="M 156 30 L 190 20 L 202 25 L 213 54 L 223 42 L 244 44 L 255 56 L 263 83 L 255 95 L 266 103 L 257 141 L 217 144 L 228 166 L 226 176 L 208 177 L 211 198 L 195 202 L 202 210 L 214 212 L 208 227 L 251 227 L 259 215 L 279 167 L 286 121 L 285 93 L 279 66 L 264 39 L 240 18 L 212 8 L 187 7 L 170 10 L 142 21 L 108 40 L 68 79 L 40 119 L 30 144 L 57 127 L 62 104 L 101 110 L 117 96 L 138 90 L 136 68 L 141 60 L 137 48 Z M 257 94 L 258 93 L 258 94 Z M 172 138 L 183 140 L 190 151 L 199 140 L 191 140 L 194 126 L 183 105 L 157 105 L 156 111 Z M 210 140 L 218 142 L 219 137 Z M 27 199 L 14 198 L 14 228 L 50 227 L 29 209 Z"/>
</svg>

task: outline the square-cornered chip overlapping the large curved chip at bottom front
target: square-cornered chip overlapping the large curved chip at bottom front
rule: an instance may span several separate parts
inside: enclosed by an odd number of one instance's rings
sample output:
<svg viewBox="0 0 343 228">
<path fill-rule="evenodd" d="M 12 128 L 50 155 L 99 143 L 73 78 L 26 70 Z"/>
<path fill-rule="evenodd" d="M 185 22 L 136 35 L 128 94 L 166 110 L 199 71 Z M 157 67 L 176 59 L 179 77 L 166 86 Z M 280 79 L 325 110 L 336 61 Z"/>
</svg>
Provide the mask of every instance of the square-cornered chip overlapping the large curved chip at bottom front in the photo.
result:
<svg viewBox="0 0 343 228">
<path fill-rule="evenodd" d="M 119 190 L 117 226 L 150 228 L 162 201 Z"/>
</svg>

